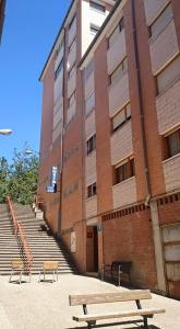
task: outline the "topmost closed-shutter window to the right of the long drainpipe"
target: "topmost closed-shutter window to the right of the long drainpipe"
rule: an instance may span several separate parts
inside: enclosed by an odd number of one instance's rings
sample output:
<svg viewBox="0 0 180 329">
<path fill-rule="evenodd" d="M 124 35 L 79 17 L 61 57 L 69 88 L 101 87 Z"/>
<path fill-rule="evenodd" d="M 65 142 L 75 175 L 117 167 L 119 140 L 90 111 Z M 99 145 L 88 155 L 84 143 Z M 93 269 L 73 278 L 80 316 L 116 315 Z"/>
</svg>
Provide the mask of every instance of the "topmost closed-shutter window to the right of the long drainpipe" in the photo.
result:
<svg viewBox="0 0 180 329">
<path fill-rule="evenodd" d="M 165 8 L 165 10 L 161 12 L 161 14 L 155 20 L 155 22 L 151 25 L 151 36 L 156 37 L 158 34 L 161 33 L 161 31 L 169 24 L 169 22 L 172 20 L 173 13 L 172 13 L 172 7 L 169 4 Z"/>
</svg>

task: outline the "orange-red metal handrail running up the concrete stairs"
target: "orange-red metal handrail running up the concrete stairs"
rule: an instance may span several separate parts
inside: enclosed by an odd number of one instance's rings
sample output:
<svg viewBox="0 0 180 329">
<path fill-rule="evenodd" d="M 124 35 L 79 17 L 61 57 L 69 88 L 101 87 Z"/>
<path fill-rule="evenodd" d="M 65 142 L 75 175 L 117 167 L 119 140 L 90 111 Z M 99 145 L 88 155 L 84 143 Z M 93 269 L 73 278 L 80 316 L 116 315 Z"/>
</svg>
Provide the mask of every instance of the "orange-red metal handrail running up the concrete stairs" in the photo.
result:
<svg viewBox="0 0 180 329">
<path fill-rule="evenodd" d="M 14 206 L 13 206 L 13 203 L 12 203 L 10 196 L 7 196 L 7 202 L 8 202 L 8 205 L 9 205 L 10 215 L 11 215 L 13 227 L 14 227 L 14 234 L 16 235 L 16 237 L 20 238 L 20 241 L 21 241 L 22 252 L 23 252 L 23 257 L 24 257 L 25 271 L 29 274 L 31 270 L 32 270 L 32 266 L 33 266 L 33 261 L 34 261 L 32 250 L 31 250 L 29 245 L 27 242 L 27 238 L 26 238 L 26 235 L 25 235 L 24 227 L 23 227 L 22 223 L 16 217 Z"/>
</svg>

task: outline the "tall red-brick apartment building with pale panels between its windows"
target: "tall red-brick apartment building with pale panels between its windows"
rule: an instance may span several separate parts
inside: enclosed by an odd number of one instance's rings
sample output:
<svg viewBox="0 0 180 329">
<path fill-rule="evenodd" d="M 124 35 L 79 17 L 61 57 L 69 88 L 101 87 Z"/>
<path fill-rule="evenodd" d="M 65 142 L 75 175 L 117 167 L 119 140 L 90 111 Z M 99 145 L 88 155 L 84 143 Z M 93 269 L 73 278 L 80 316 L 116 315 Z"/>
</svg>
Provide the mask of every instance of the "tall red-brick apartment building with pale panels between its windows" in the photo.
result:
<svg viewBox="0 0 180 329">
<path fill-rule="evenodd" d="M 72 1 L 40 77 L 38 184 L 83 272 L 132 261 L 178 298 L 179 52 L 178 0 Z"/>
</svg>

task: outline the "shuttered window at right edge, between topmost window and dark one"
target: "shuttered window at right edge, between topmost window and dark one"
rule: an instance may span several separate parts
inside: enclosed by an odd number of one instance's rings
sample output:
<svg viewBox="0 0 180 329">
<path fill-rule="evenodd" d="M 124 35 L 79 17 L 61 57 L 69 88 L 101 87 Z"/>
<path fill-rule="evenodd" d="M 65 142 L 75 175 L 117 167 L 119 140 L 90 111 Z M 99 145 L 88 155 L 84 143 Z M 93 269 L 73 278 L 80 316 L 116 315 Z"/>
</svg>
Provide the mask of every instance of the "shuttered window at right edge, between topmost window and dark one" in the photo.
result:
<svg viewBox="0 0 180 329">
<path fill-rule="evenodd" d="M 157 75 L 157 92 L 160 93 L 180 78 L 180 56 L 176 57 L 159 75 Z"/>
</svg>

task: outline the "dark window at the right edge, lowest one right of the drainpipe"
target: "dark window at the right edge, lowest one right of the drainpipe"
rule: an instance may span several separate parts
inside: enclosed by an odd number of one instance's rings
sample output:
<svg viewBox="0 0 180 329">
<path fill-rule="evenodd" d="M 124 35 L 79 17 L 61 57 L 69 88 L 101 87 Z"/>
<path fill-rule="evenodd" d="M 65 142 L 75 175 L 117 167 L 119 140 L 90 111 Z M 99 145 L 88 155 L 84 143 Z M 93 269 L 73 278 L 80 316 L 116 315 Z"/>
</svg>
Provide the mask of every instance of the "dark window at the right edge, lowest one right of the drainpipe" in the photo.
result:
<svg viewBox="0 0 180 329">
<path fill-rule="evenodd" d="M 180 129 L 166 137 L 168 154 L 167 157 L 173 157 L 180 152 Z"/>
</svg>

